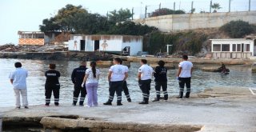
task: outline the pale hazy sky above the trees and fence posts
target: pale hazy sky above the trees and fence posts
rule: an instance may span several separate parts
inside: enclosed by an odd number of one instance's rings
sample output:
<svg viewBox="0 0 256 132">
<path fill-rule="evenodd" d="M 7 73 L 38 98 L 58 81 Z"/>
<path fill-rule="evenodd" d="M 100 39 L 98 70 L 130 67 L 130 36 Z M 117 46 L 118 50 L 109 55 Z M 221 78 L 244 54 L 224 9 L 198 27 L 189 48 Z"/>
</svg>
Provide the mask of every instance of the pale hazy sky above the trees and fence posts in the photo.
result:
<svg viewBox="0 0 256 132">
<path fill-rule="evenodd" d="M 81 5 L 90 13 L 106 15 L 108 11 L 134 8 L 134 18 L 140 14 L 152 12 L 159 8 L 175 8 L 189 12 L 191 2 L 194 1 L 195 13 L 200 11 L 209 12 L 210 0 L 1 0 L 0 1 L 0 45 L 6 43 L 18 43 L 18 30 L 39 31 L 39 25 L 45 18 L 54 17 L 58 10 L 67 4 Z M 256 0 L 250 0 L 250 10 L 256 10 Z M 219 3 L 222 9 L 218 12 L 229 10 L 229 0 L 212 0 Z M 231 0 L 231 11 L 246 11 L 249 0 Z"/>
</svg>

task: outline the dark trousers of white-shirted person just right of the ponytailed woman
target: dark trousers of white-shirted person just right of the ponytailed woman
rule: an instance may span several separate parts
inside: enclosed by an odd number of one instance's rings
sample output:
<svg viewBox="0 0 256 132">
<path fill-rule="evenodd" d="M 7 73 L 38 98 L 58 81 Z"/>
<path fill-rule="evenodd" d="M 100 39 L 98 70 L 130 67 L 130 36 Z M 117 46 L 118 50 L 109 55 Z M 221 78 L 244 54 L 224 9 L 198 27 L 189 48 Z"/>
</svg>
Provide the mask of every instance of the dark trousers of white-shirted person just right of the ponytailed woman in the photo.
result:
<svg viewBox="0 0 256 132">
<path fill-rule="evenodd" d="M 110 82 L 109 102 L 113 101 L 114 93 L 117 93 L 117 101 L 122 102 L 122 85 L 123 85 L 123 81 Z"/>
</svg>

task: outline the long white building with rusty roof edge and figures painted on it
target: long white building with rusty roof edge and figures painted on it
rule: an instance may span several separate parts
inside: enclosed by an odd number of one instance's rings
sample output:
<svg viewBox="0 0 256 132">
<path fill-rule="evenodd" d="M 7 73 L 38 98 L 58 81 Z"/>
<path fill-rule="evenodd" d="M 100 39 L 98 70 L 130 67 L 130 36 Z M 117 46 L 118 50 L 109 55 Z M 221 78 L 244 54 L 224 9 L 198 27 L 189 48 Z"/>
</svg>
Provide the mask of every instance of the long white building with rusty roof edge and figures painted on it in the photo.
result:
<svg viewBox="0 0 256 132">
<path fill-rule="evenodd" d="M 137 55 L 142 51 L 142 43 L 142 36 L 74 34 L 70 37 L 69 50 Z"/>
</svg>

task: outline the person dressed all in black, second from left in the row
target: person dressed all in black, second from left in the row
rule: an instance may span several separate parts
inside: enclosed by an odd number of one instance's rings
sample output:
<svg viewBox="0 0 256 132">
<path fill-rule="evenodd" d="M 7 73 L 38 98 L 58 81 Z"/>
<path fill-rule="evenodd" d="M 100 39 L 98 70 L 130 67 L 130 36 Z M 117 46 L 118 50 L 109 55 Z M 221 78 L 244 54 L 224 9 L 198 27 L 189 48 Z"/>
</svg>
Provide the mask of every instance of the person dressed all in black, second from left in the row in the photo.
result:
<svg viewBox="0 0 256 132">
<path fill-rule="evenodd" d="M 47 70 L 45 73 L 46 76 L 46 84 L 45 84 L 45 89 L 46 89 L 46 106 L 50 105 L 50 97 L 51 93 L 54 93 L 54 104 L 55 106 L 58 106 L 58 101 L 59 101 L 59 89 L 60 89 L 60 84 L 58 82 L 58 78 L 61 76 L 61 74 L 55 70 L 56 65 L 55 64 L 50 64 L 49 65 L 50 70 Z"/>
</svg>

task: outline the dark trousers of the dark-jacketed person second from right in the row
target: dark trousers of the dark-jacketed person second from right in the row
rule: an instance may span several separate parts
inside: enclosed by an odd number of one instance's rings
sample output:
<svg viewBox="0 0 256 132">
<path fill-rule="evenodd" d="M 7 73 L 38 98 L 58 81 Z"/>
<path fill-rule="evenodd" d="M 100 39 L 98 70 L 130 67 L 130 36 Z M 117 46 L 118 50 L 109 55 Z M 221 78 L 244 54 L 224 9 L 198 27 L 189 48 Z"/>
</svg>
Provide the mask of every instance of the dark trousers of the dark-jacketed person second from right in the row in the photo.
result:
<svg viewBox="0 0 256 132">
<path fill-rule="evenodd" d="M 156 91 L 156 95 L 157 95 L 157 99 L 160 99 L 160 90 L 162 87 L 162 92 L 164 94 L 164 99 L 167 100 L 168 99 L 168 93 L 167 93 L 167 82 L 155 82 L 155 91 Z"/>
</svg>

